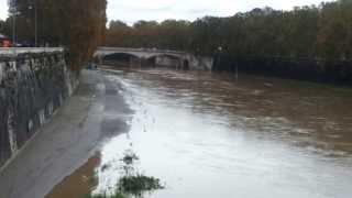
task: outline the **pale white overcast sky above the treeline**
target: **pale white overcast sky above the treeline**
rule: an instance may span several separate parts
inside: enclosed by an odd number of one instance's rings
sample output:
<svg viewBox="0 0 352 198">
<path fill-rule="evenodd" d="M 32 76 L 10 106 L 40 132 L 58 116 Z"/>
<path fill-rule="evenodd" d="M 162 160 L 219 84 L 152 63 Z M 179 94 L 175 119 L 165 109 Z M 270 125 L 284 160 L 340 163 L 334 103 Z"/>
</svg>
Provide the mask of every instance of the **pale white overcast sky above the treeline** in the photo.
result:
<svg viewBox="0 0 352 198">
<path fill-rule="evenodd" d="M 265 6 L 289 10 L 295 6 L 318 4 L 322 0 L 108 0 L 109 20 L 119 19 L 129 24 L 138 20 L 184 19 L 204 15 L 228 16 Z M 0 19 L 6 19 L 7 0 L 0 0 Z"/>
</svg>

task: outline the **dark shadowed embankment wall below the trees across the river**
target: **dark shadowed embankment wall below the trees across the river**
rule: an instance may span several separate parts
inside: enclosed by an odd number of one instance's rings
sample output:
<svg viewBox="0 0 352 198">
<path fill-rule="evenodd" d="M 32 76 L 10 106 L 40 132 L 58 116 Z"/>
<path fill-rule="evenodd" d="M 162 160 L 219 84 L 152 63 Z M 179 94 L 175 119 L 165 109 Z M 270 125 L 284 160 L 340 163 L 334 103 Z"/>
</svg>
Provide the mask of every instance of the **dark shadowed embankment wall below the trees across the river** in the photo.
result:
<svg viewBox="0 0 352 198">
<path fill-rule="evenodd" d="M 352 86 L 352 61 L 217 56 L 213 70 L 239 70 L 280 78 Z"/>
</svg>

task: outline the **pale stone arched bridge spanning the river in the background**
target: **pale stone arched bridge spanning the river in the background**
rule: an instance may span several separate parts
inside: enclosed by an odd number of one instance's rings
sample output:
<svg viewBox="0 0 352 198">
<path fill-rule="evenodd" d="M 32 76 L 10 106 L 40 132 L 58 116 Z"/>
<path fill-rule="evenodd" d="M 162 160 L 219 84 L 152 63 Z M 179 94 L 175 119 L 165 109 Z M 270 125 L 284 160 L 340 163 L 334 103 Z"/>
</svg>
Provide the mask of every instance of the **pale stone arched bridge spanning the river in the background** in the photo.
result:
<svg viewBox="0 0 352 198">
<path fill-rule="evenodd" d="M 155 48 L 98 47 L 95 57 L 101 64 L 116 65 L 124 61 L 127 65 L 166 66 L 182 69 L 211 70 L 211 57 L 195 56 L 187 52 Z"/>
</svg>

